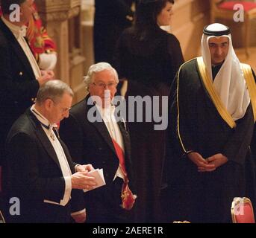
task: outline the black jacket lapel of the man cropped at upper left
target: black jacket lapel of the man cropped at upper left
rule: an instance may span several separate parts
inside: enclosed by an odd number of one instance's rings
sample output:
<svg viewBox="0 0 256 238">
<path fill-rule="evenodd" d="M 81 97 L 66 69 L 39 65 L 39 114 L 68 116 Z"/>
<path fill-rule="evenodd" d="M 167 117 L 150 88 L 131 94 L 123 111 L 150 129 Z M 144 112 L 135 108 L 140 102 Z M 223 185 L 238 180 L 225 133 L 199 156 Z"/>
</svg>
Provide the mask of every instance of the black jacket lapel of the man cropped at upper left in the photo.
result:
<svg viewBox="0 0 256 238">
<path fill-rule="evenodd" d="M 22 47 L 19 45 L 19 42 L 17 41 L 17 39 L 15 38 L 11 30 L 7 28 L 7 26 L 4 24 L 4 22 L 1 19 L 0 19 L 0 28 L 3 31 L 4 35 L 6 36 L 8 42 L 10 42 L 10 45 L 13 48 L 13 51 L 15 52 L 16 57 L 18 57 L 19 61 L 22 62 L 22 64 L 25 66 L 25 70 L 28 72 L 31 78 L 34 79 L 35 76 L 34 76 L 33 69 Z"/>
</svg>

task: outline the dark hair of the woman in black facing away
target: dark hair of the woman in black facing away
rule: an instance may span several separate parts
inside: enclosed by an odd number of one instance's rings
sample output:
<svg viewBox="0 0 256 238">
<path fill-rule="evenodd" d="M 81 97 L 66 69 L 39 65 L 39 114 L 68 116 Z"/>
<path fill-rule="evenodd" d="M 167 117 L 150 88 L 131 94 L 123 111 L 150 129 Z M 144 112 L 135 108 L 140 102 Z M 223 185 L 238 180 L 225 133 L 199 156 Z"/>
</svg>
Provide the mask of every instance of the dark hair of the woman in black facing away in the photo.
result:
<svg viewBox="0 0 256 238">
<path fill-rule="evenodd" d="M 174 4 L 174 0 L 140 0 L 136 7 L 134 28 L 140 38 L 145 38 L 150 30 L 159 28 L 157 16 L 167 2 Z"/>
</svg>

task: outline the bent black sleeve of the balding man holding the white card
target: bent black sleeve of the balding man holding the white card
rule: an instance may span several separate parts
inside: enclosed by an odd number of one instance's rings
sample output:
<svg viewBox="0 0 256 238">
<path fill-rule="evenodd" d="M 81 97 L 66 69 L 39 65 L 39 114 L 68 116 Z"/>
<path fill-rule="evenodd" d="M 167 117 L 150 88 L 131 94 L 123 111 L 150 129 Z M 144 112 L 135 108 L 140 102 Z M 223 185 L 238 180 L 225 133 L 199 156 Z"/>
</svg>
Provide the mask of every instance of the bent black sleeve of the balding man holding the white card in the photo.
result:
<svg viewBox="0 0 256 238">
<path fill-rule="evenodd" d="M 10 141 L 7 141 L 10 187 L 19 190 L 25 196 L 37 198 L 38 201 L 47 199 L 60 202 L 65 192 L 65 180 L 61 175 L 54 177 L 40 175 L 39 159 L 42 155 L 39 153 L 37 141 L 23 132 L 13 135 Z M 33 194 L 27 194 L 28 191 L 33 191 Z"/>
</svg>

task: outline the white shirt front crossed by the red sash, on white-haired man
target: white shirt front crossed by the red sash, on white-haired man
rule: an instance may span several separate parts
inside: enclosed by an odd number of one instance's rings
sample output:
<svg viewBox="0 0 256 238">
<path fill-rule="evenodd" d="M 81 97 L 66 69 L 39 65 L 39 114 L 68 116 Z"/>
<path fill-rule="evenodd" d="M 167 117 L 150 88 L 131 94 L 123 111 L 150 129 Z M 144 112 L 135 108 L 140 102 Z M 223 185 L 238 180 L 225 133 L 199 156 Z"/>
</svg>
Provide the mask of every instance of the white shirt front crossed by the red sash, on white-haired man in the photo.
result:
<svg viewBox="0 0 256 238">
<path fill-rule="evenodd" d="M 125 153 L 122 133 L 120 132 L 119 126 L 116 122 L 116 118 L 114 115 L 115 106 L 108 106 L 106 108 L 102 108 L 101 106 L 96 105 L 96 107 L 99 110 L 99 113 L 102 116 L 105 125 L 107 126 L 107 130 L 110 134 L 110 137 L 113 138 L 113 140 L 115 140 L 117 144 L 119 144 L 119 147 L 121 147 L 122 151 Z M 116 175 L 114 176 L 113 181 L 116 179 L 116 177 L 125 179 L 125 175 L 124 173 L 122 173 L 120 164 L 118 169 L 116 170 Z"/>
</svg>

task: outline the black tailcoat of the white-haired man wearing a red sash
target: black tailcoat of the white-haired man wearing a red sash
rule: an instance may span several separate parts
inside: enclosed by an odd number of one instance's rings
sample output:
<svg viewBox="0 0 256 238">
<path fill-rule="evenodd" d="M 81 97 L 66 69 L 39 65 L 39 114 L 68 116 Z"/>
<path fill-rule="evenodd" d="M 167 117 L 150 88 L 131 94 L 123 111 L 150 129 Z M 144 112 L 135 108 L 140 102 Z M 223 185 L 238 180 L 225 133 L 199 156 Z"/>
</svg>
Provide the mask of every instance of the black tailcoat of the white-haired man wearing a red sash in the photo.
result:
<svg viewBox="0 0 256 238">
<path fill-rule="evenodd" d="M 90 220 L 92 216 L 96 218 L 109 216 L 107 210 L 115 213 L 115 208 L 119 208 L 121 204 L 119 198 L 121 196 L 122 180 L 117 178 L 115 181 L 119 181 L 119 184 L 114 185 L 113 188 L 113 184 L 115 184 L 113 179 L 119 167 L 119 159 L 104 121 L 91 123 L 87 118 L 88 111 L 94 107 L 94 105 L 87 105 L 89 97 L 90 95 L 73 106 L 69 112 L 69 118 L 62 121 L 60 124 L 60 138 L 65 141 L 74 161 L 82 164 L 92 164 L 94 168 L 103 168 L 106 185 L 85 193 L 87 218 Z M 124 123 L 118 122 L 118 125 L 125 145 L 125 167 L 130 180 L 129 187 L 134 192 L 130 137 Z M 108 218 L 110 219 L 110 217 Z M 96 219 L 93 222 L 99 220 Z M 101 221 L 111 222 L 111 220 L 104 219 Z"/>
</svg>

